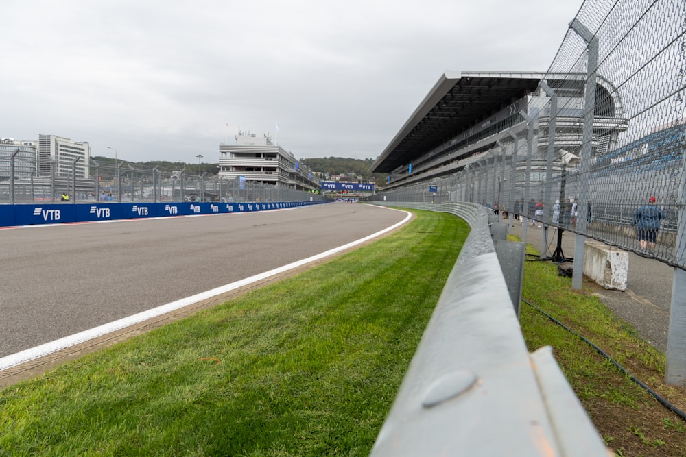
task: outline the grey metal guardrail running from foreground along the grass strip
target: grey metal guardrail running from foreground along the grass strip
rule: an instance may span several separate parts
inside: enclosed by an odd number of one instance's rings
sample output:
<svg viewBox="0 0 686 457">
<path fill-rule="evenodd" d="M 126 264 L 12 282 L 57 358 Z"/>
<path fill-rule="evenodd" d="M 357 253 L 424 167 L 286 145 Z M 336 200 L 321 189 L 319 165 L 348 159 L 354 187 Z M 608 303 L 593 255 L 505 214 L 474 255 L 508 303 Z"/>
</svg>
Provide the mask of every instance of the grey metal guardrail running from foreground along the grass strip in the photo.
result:
<svg viewBox="0 0 686 457">
<path fill-rule="evenodd" d="M 375 204 L 449 212 L 471 232 L 371 455 L 606 456 L 551 349 L 527 351 L 486 208 Z"/>
</svg>

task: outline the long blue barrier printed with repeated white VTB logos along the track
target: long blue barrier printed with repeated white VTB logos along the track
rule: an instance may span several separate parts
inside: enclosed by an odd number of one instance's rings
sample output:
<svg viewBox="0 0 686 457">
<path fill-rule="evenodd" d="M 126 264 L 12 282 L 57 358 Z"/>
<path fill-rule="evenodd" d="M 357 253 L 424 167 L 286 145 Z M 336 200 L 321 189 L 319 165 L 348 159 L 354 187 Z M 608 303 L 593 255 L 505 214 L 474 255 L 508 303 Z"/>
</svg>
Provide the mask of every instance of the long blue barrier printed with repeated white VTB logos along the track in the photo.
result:
<svg viewBox="0 0 686 457">
<path fill-rule="evenodd" d="M 0 227 L 91 221 L 115 221 L 150 217 L 229 214 L 316 205 L 329 201 L 290 201 L 275 203 L 45 203 L 0 205 Z"/>
</svg>

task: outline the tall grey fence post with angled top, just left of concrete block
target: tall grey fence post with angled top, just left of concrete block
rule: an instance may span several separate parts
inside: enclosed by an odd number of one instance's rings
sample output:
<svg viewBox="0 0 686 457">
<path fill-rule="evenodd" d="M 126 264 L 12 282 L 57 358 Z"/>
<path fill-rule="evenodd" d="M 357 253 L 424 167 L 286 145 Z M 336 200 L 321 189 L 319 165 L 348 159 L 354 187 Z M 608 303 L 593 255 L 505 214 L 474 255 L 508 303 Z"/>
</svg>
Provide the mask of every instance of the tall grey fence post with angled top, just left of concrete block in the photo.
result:
<svg viewBox="0 0 686 457">
<path fill-rule="evenodd" d="M 598 38 L 582 23 L 574 19 L 569 27 L 588 43 L 586 97 L 584 99 L 584 126 L 579 164 L 579 197 L 577 202 L 576 241 L 574 243 L 574 269 L 571 288 L 580 290 L 584 280 L 584 247 L 589 208 L 589 171 L 593 153 L 593 114 L 595 112 L 595 77 L 598 70 Z"/>
</svg>

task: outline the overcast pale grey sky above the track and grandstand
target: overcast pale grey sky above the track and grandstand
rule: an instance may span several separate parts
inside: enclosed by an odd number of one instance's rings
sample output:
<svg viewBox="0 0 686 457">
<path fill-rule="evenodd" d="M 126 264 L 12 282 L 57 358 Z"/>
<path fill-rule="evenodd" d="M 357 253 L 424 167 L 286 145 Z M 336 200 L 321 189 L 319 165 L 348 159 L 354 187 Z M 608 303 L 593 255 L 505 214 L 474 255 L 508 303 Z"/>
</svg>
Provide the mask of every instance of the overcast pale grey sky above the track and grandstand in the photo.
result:
<svg viewBox="0 0 686 457">
<path fill-rule="evenodd" d="M 374 159 L 444 71 L 546 71 L 581 4 L 3 0 L 0 136 L 197 163 L 240 128 Z"/>
</svg>

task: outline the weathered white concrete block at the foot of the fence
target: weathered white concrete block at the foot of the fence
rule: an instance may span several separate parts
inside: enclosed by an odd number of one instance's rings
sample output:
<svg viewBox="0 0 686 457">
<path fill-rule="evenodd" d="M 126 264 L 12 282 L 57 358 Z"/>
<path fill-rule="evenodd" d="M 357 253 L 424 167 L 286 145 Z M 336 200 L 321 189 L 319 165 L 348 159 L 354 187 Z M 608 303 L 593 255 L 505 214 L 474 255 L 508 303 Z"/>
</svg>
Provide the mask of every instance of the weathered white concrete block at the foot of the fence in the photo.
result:
<svg viewBox="0 0 686 457">
<path fill-rule="evenodd" d="M 629 254 L 599 243 L 584 246 L 584 275 L 606 289 L 626 291 Z"/>
</svg>

